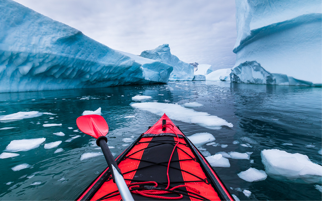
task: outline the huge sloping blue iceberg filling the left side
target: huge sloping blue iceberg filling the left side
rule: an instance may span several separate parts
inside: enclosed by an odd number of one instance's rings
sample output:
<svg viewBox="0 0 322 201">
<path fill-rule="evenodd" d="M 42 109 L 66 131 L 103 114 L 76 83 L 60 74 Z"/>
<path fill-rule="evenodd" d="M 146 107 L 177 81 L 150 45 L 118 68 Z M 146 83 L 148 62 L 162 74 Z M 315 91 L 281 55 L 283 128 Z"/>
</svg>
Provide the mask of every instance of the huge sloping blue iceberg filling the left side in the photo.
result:
<svg viewBox="0 0 322 201">
<path fill-rule="evenodd" d="M 0 93 L 167 82 L 172 69 L 126 56 L 66 24 L 0 0 Z"/>
</svg>

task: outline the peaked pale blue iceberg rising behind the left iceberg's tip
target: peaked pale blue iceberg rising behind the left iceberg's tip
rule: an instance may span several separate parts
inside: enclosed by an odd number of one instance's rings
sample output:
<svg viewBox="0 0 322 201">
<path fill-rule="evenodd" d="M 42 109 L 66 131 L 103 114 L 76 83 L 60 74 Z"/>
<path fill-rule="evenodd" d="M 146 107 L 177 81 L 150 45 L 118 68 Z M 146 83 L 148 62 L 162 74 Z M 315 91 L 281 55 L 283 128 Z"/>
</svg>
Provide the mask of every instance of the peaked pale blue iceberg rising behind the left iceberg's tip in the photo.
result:
<svg viewBox="0 0 322 201">
<path fill-rule="evenodd" d="M 171 54 L 169 44 L 160 45 L 154 50 L 145 50 L 140 56 L 173 66 L 170 81 L 192 81 L 194 78 L 194 66 L 181 61 L 177 56 Z"/>
</svg>

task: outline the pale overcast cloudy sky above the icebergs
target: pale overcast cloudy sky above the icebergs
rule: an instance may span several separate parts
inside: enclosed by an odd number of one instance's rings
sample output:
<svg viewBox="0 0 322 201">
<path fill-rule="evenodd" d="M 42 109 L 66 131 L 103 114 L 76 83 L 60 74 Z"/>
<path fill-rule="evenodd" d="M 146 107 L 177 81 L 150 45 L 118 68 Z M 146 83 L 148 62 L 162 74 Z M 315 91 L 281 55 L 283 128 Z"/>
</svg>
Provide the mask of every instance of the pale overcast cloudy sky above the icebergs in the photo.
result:
<svg viewBox="0 0 322 201">
<path fill-rule="evenodd" d="M 187 63 L 232 68 L 234 0 L 15 0 L 110 48 L 139 55 L 168 43 Z"/>
</svg>

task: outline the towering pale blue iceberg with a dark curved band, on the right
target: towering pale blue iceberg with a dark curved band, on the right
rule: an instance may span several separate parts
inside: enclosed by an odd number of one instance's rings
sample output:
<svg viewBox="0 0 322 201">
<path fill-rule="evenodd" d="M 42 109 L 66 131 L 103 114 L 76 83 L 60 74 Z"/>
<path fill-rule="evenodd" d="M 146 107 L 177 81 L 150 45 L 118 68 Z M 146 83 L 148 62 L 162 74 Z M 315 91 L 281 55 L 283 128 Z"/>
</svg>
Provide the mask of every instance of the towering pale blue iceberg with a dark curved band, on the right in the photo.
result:
<svg viewBox="0 0 322 201">
<path fill-rule="evenodd" d="M 321 86 L 321 0 L 236 0 L 231 81 Z"/>
</svg>

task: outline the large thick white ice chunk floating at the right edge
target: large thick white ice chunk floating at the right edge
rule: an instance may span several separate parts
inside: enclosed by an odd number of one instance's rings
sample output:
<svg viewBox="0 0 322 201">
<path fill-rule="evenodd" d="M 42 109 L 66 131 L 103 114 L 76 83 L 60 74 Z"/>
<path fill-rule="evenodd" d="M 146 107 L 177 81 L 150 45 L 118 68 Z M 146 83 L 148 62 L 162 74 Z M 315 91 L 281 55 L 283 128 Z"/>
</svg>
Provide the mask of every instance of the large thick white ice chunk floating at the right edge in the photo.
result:
<svg viewBox="0 0 322 201">
<path fill-rule="evenodd" d="M 278 149 L 263 150 L 260 155 L 265 171 L 271 177 L 321 183 L 322 166 L 313 163 L 306 155 Z"/>
</svg>

